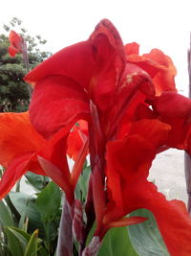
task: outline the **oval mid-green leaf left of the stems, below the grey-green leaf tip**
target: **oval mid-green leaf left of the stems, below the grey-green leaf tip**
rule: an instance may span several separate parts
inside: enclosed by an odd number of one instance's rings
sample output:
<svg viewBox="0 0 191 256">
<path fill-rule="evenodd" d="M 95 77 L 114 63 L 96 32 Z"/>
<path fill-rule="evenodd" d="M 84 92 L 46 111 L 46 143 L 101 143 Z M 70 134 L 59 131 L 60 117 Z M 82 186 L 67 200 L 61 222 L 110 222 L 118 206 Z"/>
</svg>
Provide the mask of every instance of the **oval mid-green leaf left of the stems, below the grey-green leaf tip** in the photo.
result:
<svg viewBox="0 0 191 256">
<path fill-rule="evenodd" d="M 61 192 L 58 186 L 51 181 L 36 199 L 36 208 L 44 222 L 52 221 L 59 210 L 61 203 Z"/>
</svg>

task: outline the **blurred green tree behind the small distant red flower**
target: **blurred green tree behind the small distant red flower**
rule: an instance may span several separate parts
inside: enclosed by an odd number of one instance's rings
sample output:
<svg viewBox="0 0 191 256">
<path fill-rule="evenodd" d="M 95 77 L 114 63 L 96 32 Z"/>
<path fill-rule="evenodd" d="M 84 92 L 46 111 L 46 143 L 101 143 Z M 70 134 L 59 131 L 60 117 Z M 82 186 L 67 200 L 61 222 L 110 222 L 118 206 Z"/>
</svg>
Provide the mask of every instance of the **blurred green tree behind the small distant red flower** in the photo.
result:
<svg viewBox="0 0 191 256">
<path fill-rule="evenodd" d="M 0 112 L 21 112 L 28 109 L 30 102 L 28 86 L 22 78 L 27 73 L 21 54 L 11 58 L 8 53 L 11 30 L 21 35 L 27 42 L 30 69 L 51 56 L 42 51 L 46 40 L 40 35 L 28 35 L 22 28 L 22 21 L 14 17 L 9 25 L 4 25 L 5 34 L 0 35 Z"/>
</svg>

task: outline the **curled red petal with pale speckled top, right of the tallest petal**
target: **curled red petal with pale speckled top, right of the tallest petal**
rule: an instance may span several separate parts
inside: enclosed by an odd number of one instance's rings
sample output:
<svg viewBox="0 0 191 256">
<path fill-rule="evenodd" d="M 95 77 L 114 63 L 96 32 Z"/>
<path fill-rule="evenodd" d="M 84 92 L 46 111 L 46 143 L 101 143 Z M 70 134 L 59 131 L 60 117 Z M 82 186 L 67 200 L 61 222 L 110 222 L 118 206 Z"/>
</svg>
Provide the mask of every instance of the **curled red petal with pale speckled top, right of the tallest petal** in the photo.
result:
<svg viewBox="0 0 191 256">
<path fill-rule="evenodd" d="M 103 123 L 108 122 L 110 129 L 115 129 L 120 124 L 119 137 L 124 136 L 125 130 L 128 132 L 131 122 L 135 119 L 138 105 L 155 96 L 155 88 L 150 76 L 135 64 L 127 63 L 122 81 L 108 121 L 105 121 L 105 116 L 103 117 Z"/>
</svg>

